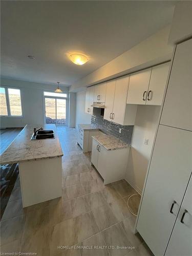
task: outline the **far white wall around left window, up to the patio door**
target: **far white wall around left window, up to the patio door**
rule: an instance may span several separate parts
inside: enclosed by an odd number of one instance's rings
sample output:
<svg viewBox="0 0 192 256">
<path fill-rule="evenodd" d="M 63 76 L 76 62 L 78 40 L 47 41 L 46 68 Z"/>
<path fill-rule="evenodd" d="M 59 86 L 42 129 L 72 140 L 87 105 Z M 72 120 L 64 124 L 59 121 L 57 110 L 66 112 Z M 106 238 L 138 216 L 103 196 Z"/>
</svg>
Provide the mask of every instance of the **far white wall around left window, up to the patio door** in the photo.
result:
<svg viewBox="0 0 192 256">
<path fill-rule="evenodd" d="M 55 85 L 1 78 L 1 86 L 18 87 L 21 90 L 24 117 L 2 117 L 1 127 L 23 127 L 26 124 L 43 124 L 44 110 L 42 93 L 55 90 Z M 63 92 L 68 88 L 61 87 Z"/>
</svg>

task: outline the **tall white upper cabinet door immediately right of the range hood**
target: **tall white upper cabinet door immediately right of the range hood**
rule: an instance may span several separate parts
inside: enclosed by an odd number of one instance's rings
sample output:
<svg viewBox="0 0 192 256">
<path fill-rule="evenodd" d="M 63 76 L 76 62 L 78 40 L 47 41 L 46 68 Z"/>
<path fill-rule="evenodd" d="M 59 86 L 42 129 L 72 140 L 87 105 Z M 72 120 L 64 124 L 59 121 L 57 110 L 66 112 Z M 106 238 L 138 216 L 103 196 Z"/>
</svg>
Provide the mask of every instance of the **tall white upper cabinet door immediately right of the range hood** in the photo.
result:
<svg viewBox="0 0 192 256">
<path fill-rule="evenodd" d="M 114 102 L 114 95 L 115 95 L 115 83 L 116 83 L 116 80 L 112 80 L 106 83 L 104 119 L 108 121 L 112 120 L 113 102 Z"/>
</svg>

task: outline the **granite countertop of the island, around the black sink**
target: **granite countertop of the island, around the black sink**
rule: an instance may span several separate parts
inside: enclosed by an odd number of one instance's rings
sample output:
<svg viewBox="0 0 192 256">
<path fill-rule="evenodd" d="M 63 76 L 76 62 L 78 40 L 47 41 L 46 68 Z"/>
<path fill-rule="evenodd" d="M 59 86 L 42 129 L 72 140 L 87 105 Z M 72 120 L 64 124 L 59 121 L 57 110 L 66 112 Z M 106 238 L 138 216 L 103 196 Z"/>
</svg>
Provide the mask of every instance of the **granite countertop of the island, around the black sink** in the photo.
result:
<svg viewBox="0 0 192 256">
<path fill-rule="evenodd" d="M 33 127 L 54 130 L 55 139 L 31 140 Z M 1 164 L 25 162 L 30 160 L 62 157 L 62 149 L 55 124 L 26 125 L 6 151 L 1 155 Z"/>
</svg>

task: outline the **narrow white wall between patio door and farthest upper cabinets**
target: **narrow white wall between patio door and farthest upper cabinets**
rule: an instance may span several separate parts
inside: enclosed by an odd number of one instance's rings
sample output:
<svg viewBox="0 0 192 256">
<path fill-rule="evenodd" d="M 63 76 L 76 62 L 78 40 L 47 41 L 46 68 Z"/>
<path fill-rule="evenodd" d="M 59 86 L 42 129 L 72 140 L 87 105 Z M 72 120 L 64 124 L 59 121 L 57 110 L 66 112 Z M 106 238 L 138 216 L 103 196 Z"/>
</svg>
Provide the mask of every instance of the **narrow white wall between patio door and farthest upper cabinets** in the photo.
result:
<svg viewBox="0 0 192 256">
<path fill-rule="evenodd" d="M 86 108 L 86 91 L 76 95 L 76 129 L 79 123 L 91 123 L 91 115 L 84 112 Z"/>
</svg>

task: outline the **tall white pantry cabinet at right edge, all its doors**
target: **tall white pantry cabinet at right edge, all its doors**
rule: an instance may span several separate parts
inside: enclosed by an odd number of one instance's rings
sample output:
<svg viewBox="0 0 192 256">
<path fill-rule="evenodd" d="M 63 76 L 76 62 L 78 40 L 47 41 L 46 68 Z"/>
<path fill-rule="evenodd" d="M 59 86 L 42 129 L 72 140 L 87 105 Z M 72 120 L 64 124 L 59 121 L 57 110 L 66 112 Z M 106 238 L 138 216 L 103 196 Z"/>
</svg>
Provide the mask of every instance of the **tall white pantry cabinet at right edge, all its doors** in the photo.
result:
<svg viewBox="0 0 192 256">
<path fill-rule="evenodd" d="M 192 255 L 192 39 L 177 45 L 136 229 L 155 255 Z"/>
</svg>

